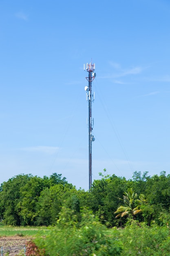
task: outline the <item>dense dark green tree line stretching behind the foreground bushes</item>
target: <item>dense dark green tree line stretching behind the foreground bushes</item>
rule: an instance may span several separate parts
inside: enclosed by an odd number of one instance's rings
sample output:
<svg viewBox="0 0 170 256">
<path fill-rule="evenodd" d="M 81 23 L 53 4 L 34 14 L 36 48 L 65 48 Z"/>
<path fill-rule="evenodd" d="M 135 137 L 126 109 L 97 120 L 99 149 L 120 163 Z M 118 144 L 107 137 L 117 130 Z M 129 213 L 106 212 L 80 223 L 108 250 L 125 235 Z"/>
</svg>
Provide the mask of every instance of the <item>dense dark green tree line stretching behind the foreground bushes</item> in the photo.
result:
<svg viewBox="0 0 170 256">
<path fill-rule="evenodd" d="M 5 225 L 53 225 L 61 208 L 88 209 L 107 227 L 121 226 L 131 220 L 150 226 L 169 225 L 170 174 L 148 176 L 135 172 L 132 179 L 99 173 L 91 191 L 76 189 L 62 174 L 37 177 L 20 174 L 0 186 L 0 219 Z"/>
</svg>

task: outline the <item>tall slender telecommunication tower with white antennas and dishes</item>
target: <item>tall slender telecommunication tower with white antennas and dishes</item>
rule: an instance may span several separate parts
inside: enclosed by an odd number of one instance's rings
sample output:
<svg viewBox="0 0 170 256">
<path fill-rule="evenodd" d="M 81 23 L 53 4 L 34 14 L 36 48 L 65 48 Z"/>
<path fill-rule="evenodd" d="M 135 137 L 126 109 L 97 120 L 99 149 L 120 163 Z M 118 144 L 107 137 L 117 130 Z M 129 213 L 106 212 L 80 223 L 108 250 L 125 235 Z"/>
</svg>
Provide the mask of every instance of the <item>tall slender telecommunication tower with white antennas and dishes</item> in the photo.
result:
<svg viewBox="0 0 170 256">
<path fill-rule="evenodd" d="M 89 166 L 89 191 L 90 191 L 91 184 L 92 184 L 92 142 L 95 141 L 95 138 L 92 135 L 94 119 L 92 119 L 92 108 L 91 108 L 91 103 L 95 99 L 95 93 L 92 92 L 92 82 L 96 76 L 96 73 L 94 73 L 95 63 L 84 64 L 84 70 L 88 72 L 88 76 L 86 77 L 88 81 L 88 86 L 85 86 L 85 91 L 86 91 L 86 100 L 88 101 L 88 148 L 89 148 L 88 166 Z"/>
</svg>

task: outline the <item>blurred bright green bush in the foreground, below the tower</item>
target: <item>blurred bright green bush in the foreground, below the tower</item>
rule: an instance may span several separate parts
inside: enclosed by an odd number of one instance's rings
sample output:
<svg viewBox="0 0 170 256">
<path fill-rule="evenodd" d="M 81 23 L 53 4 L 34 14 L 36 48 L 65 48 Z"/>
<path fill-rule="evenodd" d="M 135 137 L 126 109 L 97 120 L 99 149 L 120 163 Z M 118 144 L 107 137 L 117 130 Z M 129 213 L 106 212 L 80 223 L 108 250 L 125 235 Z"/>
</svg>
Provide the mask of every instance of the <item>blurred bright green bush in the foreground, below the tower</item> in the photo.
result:
<svg viewBox="0 0 170 256">
<path fill-rule="evenodd" d="M 78 222 L 74 211 L 64 208 L 57 225 L 51 227 L 47 236 L 36 238 L 35 243 L 50 256 L 119 256 L 122 244 L 117 238 L 118 232 L 108 234 L 92 212 L 82 212 Z"/>
</svg>

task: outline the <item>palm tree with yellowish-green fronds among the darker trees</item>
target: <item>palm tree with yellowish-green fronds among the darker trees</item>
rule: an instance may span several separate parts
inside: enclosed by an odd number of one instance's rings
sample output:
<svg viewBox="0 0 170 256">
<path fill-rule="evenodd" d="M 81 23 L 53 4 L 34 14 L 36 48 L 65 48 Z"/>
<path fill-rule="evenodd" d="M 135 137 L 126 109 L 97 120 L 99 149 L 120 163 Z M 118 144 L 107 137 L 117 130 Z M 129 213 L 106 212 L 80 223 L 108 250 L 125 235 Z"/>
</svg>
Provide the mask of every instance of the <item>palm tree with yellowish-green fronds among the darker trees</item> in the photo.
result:
<svg viewBox="0 0 170 256">
<path fill-rule="evenodd" d="M 139 199 L 137 199 L 137 193 L 135 193 L 132 189 L 128 189 L 128 192 L 124 193 L 123 201 L 124 206 L 119 206 L 117 208 L 117 211 L 115 211 L 116 214 L 118 213 L 116 218 L 124 216 L 131 216 L 132 218 L 134 218 L 136 214 L 141 212 L 141 204 L 144 204 L 146 202 L 144 195 L 142 194 L 139 196 Z M 137 207 L 135 207 L 136 203 L 138 203 Z"/>
</svg>

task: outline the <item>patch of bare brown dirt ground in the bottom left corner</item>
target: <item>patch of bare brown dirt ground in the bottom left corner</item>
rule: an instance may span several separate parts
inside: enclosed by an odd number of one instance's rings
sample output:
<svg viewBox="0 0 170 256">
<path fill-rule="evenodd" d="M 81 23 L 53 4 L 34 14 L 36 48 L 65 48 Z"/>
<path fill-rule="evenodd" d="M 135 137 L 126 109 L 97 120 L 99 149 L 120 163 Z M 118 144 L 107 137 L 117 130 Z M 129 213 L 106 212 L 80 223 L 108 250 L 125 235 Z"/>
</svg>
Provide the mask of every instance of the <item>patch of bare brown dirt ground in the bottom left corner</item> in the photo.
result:
<svg viewBox="0 0 170 256">
<path fill-rule="evenodd" d="M 29 236 L 6 236 L 0 237 L 0 255 L 16 256 L 24 255 L 24 246 L 31 240 Z"/>
</svg>

